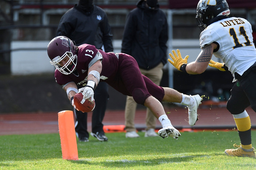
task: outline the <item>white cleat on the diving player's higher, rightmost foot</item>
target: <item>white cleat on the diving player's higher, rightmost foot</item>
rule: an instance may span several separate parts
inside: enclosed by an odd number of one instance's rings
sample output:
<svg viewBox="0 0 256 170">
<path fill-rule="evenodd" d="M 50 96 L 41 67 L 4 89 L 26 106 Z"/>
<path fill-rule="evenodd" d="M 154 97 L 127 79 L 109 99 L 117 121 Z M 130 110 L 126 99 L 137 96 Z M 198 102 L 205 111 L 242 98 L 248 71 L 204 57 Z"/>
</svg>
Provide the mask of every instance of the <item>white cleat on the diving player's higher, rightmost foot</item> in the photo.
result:
<svg viewBox="0 0 256 170">
<path fill-rule="evenodd" d="M 194 126 L 198 120 L 197 108 L 203 99 L 198 94 L 191 96 L 190 99 L 195 101 L 195 105 L 193 107 L 188 107 L 188 123 L 190 126 Z"/>
</svg>

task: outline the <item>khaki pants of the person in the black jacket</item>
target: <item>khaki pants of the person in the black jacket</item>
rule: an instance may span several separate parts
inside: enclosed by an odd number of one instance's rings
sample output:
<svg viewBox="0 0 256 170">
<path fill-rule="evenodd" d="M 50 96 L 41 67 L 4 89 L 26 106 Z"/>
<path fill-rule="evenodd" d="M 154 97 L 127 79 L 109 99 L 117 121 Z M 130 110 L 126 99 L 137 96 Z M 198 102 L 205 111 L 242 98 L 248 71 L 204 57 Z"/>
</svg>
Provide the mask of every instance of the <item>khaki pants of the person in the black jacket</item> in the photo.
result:
<svg viewBox="0 0 256 170">
<path fill-rule="evenodd" d="M 163 76 L 163 63 L 158 64 L 157 67 L 154 67 L 151 70 L 139 69 L 141 74 L 145 75 L 147 78 L 151 79 L 156 85 L 160 85 L 162 76 Z M 125 130 L 127 132 L 136 131 L 134 125 L 134 118 L 136 112 L 137 103 L 133 100 L 132 96 L 127 96 L 126 105 L 125 105 Z M 156 118 L 153 113 L 147 108 L 146 114 L 146 126 L 147 129 L 155 129 Z"/>
</svg>

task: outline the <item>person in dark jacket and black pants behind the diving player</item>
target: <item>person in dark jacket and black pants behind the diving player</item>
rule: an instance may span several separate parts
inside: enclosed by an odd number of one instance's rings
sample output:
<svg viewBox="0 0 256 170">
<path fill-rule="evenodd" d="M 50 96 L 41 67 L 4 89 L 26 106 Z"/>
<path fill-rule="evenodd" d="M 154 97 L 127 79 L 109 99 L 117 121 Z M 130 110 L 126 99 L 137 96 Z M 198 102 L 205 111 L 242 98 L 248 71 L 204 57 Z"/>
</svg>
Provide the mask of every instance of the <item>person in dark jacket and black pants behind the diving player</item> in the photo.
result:
<svg viewBox="0 0 256 170">
<path fill-rule="evenodd" d="M 93 4 L 93 0 L 79 0 L 78 4 L 69 9 L 60 19 L 57 35 L 72 39 L 78 46 L 87 43 L 105 52 L 113 52 L 113 35 L 107 15 L 102 8 Z M 78 87 L 83 87 L 82 83 Z M 107 141 L 102 123 L 109 100 L 108 85 L 105 82 L 98 84 L 94 99 L 96 103 L 101 104 L 94 108 L 90 134 L 98 140 Z M 76 135 L 79 141 L 87 142 L 89 141 L 87 113 L 75 109 L 74 113 Z"/>
</svg>

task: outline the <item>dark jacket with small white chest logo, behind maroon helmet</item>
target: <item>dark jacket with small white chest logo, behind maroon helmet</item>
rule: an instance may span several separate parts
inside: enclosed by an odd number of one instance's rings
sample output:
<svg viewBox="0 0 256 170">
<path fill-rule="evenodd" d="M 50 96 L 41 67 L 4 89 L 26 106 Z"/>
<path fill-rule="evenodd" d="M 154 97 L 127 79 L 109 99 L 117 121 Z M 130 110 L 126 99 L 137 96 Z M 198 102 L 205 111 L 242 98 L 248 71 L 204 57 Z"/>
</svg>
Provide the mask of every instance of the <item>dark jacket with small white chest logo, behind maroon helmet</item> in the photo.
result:
<svg viewBox="0 0 256 170">
<path fill-rule="evenodd" d="M 60 19 L 57 35 L 63 35 L 75 41 L 76 45 L 91 44 L 105 52 L 113 52 L 112 33 L 105 11 L 94 5 L 88 15 L 82 9 L 72 7 Z"/>
</svg>

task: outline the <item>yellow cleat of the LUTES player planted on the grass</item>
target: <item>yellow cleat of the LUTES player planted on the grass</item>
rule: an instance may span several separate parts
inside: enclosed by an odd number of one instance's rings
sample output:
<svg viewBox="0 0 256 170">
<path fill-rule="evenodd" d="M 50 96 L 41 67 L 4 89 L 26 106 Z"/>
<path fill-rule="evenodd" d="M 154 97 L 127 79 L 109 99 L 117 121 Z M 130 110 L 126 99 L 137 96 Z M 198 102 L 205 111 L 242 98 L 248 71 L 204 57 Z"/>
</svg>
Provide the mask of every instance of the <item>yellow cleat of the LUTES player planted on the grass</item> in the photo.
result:
<svg viewBox="0 0 256 170">
<path fill-rule="evenodd" d="M 256 158 L 255 155 L 255 149 L 251 148 L 251 149 L 246 149 L 248 150 L 248 152 L 245 151 L 245 149 L 243 149 L 241 147 L 241 145 L 237 145 L 234 144 L 234 147 L 237 147 L 237 149 L 226 149 L 225 153 L 228 156 L 237 156 L 237 157 L 252 157 L 252 158 Z"/>
</svg>

